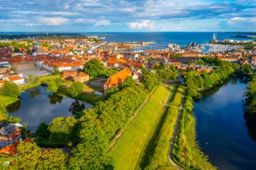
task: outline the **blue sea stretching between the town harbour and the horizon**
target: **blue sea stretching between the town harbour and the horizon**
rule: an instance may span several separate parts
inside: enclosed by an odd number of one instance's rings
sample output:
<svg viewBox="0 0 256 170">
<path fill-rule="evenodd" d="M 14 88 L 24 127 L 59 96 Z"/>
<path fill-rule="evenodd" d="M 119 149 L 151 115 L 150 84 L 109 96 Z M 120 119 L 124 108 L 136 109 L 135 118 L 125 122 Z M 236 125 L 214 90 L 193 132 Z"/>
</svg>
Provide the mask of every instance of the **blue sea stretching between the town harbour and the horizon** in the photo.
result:
<svg viewBox="0 0 256 170">
<path fill-rule="evenodd" d="M 0 32 L 0 34 L 38 34 L 46 32 Z M 50 32 L 49 32 L 50 33 Z M 59 34 L 59 32 L 56 32 Z M 72 33 L 72 32 L 63 32 Z M 105 42 L 155 42 L 147 48 L 166 48 L 169 43 L 187 46 L 190 42 L 205 44 L 212 40 L 213 34 L 217 34 L 218 40 L 255 40 L 255 38 L 236 38 L 237 35 L 255 35 L 255 32 L 74 32 L 86 36 L 102 36 Z"/>
</svg>

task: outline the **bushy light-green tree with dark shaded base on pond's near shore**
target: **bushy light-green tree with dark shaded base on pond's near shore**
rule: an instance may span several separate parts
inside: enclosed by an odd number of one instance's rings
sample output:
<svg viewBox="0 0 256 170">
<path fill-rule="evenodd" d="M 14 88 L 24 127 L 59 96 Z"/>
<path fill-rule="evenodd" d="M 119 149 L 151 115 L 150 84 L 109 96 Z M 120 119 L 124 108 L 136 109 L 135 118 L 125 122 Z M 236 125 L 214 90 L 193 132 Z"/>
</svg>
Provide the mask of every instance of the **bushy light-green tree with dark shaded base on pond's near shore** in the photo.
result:
<svg viewBox="0 0 256 170">
<path fill-rule="evenodd" d="M 77 120 L 73 117 L 55 118 L 49 124 L 48 130 L 51 132 L 50 140 L 62 140 L 65 145 L 71 144 L 75 140 L 75 124 Z"/>
</svg>

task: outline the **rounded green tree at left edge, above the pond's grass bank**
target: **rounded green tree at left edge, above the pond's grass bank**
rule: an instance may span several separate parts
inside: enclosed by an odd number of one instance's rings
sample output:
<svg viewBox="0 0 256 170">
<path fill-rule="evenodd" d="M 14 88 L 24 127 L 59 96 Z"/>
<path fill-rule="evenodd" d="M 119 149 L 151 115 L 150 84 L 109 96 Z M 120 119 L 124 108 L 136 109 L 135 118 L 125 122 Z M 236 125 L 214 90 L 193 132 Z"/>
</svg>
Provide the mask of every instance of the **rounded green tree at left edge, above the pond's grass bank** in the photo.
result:
<svg viewBox="0 0 256 170">
<path fill-rule="evenodd" d="M 18 97 L 20 95 L 20 89 L 15 83 L 11 81 L 5 81 L 5 83 L 3 83 L 1 95 Z"/>
</svg>

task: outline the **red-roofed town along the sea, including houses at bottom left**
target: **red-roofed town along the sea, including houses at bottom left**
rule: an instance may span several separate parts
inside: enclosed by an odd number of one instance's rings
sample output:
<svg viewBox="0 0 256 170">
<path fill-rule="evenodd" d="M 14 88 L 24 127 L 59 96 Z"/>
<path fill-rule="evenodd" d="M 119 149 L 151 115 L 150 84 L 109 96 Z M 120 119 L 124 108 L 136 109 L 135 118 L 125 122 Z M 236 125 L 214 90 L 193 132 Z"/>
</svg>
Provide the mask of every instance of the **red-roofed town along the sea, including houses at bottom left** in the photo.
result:
<svg viewBox="0 0 256 170">
<path fill-rule="evenodd" d="M 12 82 L 18 85 L 20 91 L 46 85 L 51 89 L 49 91 L 57 92 L 52 84 L 60 83 L 62 92 L 58 93 L 61 95 L 95 104 L 108 99 L 129 77 L 139 85 L 145 80 L 145 73 L 154 75 L 158 69 L 171 70 L 171 75 L 177 71 L 179 79 L 175 80 L 177 77 L 174 76 L 174 79 L 167 78 L 169 81 L 164 83 L 175 86 L 184 84 L 182 77 L 186 71 L 205 75 L 218 71 L 220 66 L 210 64 L 208 60 L 231 62 L 250 69 L 256 67 L 255 40 L 218 41 L 214 34 L 210 44 L 206 45 L 212 47 L 207 52 L 203 52 L 205 46 L 196 42 L 184 47 L 170 43 L 162 49 L 148 49 L 149 44 L 154 42 L 107 42 L 101 37 L 85 35 L 38 35 L 13 40 L 3 39 L 0 40 L 0 90 L 7 82 Z M 93 73 L 98 67 L 100 73 Z M 82 84 L 82 91 L 74 94 L 69 89 L 76 82 Z M 148 91 L 154 89 L 147 88 Z M 172 88 L 174 87 L 170 87 Z M 65 89 L 66 93 L 63 92 Z M 2 109 L 1 112 L 0 153 L 16 155 L 17 146 L 23 138 L 26 142 L 32 140 L 25 139 L 26 125 L 20 124 L 20 118 L 8 118 L 3 113 L 6 111 Z M 63 144 L 67 147 L 67 143 Z"/>
</svg>

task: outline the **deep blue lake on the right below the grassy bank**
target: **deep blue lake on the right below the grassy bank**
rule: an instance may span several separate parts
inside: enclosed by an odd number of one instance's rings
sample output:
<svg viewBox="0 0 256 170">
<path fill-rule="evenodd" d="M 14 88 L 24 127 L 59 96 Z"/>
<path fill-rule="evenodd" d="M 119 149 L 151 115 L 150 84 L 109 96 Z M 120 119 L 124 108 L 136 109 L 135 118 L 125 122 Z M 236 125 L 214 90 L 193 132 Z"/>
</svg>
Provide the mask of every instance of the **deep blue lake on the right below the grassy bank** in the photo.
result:
<svg viewBox="0 0 256 170">
<path fill-rule="evenodd" d="M 197 140 L 219 169 L 256 169 L 255 131 L 245 124 L 243 94 L 247 84 L 230 79 L 195 101 Z"/>
</svg>

